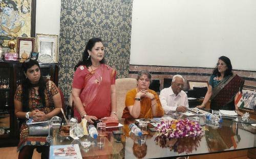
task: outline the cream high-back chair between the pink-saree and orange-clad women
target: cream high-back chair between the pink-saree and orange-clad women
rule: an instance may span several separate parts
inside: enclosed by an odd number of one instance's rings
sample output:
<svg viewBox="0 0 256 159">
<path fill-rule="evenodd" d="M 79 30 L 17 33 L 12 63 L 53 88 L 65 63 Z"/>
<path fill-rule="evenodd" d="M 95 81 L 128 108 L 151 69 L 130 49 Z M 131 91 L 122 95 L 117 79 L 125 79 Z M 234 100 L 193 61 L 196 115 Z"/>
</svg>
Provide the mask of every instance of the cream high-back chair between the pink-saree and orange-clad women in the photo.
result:
<svg viewBox="0 0 256 159">
<path fill-rule="evenodd" d="M 120 120 L 125 108 L 125 97 L 127 91 L 137 87 L 134 78 L 119 78 L 116 80 L 117 117 Z"/>
</svg>

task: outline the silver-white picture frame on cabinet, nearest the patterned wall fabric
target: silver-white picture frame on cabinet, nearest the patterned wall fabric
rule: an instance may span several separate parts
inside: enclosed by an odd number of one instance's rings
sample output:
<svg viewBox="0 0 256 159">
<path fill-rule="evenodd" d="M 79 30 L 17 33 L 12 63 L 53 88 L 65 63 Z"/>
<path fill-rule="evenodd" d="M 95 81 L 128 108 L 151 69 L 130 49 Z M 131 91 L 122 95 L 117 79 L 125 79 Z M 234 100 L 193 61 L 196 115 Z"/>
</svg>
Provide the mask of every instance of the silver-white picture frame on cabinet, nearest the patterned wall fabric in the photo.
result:
<svg viewBox="0 0 256 159">
<path fill-rule="evenodd" d="M 58 36 L 36 34 L 37 52 L 41 63 L 58 62 Z"/>
</svg>

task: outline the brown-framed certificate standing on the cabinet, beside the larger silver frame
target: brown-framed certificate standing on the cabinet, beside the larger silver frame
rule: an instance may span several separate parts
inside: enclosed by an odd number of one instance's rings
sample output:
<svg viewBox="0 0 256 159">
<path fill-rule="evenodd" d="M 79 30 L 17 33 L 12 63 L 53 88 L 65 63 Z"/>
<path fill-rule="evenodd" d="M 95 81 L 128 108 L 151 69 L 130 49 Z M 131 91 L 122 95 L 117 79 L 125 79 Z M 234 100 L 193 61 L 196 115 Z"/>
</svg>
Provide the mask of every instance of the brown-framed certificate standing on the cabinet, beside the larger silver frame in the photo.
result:
<svg viewBox="0 0 256 159">
<path fill-rule="evenodd" d="M 21 59 L 22 54 L 27 54 L 30 57 L 30 53 L 35 51 L 35 38 L 17 37 L 17 54 Z"/>
</svg>

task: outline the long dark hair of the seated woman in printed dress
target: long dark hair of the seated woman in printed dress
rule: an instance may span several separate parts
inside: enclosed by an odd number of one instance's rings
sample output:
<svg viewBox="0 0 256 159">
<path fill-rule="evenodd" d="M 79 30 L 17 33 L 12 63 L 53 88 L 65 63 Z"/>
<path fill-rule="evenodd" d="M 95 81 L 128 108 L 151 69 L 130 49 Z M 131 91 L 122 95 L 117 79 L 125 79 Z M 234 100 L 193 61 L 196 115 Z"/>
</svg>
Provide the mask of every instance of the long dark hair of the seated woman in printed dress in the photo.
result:
<svg viewBox="0 0 256 159">
<path fill-rule="evenodd" d="M 20 70 L 20 75 L 21 75 L 21 84 L 22 84 L 22 105 L 23 105 L 23 111 L 29 111 L 29 90 L 32 87 L 35 87 L 35 85 L 31 84 L 29 79 L 26 77 L 25 73 L 29 68 L 32 66 L 37 65 L 40 69 L 40 66 L 36 60 L 26 60 L 22 64 L 22 69 Z M 42 105 L 46 104 L 46 99 L 45 99 L 45 90 L 46 90 L 46 81 L 42 76 L 40 75 L 39 82 L 36 86 L 39 86 L 38 88 L 38 94 L 40 97 L 40 103 Z"/>
</svg>

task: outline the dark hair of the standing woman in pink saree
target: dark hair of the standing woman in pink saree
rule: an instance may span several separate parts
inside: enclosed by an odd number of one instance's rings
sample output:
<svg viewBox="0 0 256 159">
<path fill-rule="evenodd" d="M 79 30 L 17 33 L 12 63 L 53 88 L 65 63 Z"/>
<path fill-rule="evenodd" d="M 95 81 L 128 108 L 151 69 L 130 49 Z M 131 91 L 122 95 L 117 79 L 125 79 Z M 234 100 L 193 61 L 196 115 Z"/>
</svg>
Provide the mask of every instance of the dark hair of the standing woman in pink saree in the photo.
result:
<svg viewBox="0 0 256 159">
<path fill-rule="evenodd" d="M 79 61 L 79 62 L 75 65 L 74 70 L 76 70 L 76 68 L 77 68 L 78 66 L 80 66 L 80 65 L 86 65 L 87 68 L 92 65 L 91 56 L 90 56 L 90 58 L 88 59 L 88 56 L 89 56 L 88 50 L 91 51 L 96 42 L 101 42 L 101 43 L 103 43 L 100 38 L 92 38 L 92 39 L 90 39 L 90 40 L 88 41 L 87 45 L 86 45 L 86 49 L 84 49 L 84 51 L 83 51 L 82 60 Z M 105 62 L 105 59 L 103 58 L 99 63 L 101 63 L 101 64 L 106 63 L 106 62 Z"/>
</svg>

